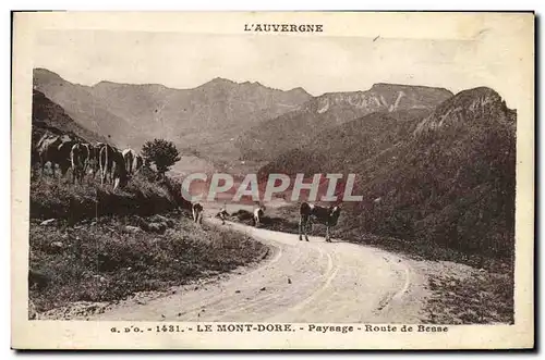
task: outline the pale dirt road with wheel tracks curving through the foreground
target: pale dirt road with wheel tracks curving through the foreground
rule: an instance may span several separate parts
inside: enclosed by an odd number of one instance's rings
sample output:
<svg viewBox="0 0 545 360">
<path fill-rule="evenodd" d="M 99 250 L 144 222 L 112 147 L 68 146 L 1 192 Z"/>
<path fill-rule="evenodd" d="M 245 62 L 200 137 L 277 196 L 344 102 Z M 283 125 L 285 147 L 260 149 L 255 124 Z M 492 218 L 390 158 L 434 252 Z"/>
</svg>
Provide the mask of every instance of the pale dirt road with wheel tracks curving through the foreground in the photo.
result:
<svg viewBox="0 0 545 360">
<path fill-rule="evenodd" d="M 184 287 L 145 303 L 121 302 L 89 320 L 417 323 L 423 319 L 425 278 L 398 256 L 318 237 L 300 241 L 293 234 L 241 224 L 223 226 L 269 245 L 267 259 L 218 282 Z"/>
</svg>

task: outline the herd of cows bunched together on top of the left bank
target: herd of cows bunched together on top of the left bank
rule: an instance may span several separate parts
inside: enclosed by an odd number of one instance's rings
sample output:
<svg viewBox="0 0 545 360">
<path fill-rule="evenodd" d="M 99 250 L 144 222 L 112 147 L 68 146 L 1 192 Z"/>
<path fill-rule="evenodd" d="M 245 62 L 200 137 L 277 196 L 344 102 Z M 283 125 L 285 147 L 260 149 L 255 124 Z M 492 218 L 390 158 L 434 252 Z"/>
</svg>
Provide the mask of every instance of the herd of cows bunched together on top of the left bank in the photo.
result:
<svg viewBox="0 0 545 360">
<path fill-rule="evenodd" d="M 113 189 L 126 185 L 129 177 L 144 165 L 144 158 L 133 149 L 120 150 L 105 144 L 88 144 L 66 135 L 45 134 L 37 142 L 34 154 L 39 162 L 41 174 L 50 163 L 52 176 L 58 166 L 61 176 L 72 169 L 72 182 L 82 183 L 88 174 L 100 175 L 100 184 L 113 184 Z"/>
</svg>

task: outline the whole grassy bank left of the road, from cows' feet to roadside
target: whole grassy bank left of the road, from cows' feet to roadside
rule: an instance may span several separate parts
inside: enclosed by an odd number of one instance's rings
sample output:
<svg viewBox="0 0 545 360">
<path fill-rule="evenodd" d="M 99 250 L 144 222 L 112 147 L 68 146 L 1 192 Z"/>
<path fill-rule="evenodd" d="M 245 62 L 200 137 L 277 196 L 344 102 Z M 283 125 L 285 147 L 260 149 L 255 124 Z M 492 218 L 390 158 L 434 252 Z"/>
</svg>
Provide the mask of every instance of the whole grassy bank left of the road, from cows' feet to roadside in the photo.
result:
<svg viewBox="0 0 545 360">
<path fill-rule="evenodd" d="M 166 290 L 263 258 L 265 246 L 250 237 L 194 225 L 179 189 L 170 179 L 153 183 L 145 174 L 116 191 L 90 178 L 73 185 L 68 178 L 35 175 L 29 233 L 33 308 L 43 312 L 74 301 Z M 40 225 L 46 219 L 56 220 Z"/>
</svg>

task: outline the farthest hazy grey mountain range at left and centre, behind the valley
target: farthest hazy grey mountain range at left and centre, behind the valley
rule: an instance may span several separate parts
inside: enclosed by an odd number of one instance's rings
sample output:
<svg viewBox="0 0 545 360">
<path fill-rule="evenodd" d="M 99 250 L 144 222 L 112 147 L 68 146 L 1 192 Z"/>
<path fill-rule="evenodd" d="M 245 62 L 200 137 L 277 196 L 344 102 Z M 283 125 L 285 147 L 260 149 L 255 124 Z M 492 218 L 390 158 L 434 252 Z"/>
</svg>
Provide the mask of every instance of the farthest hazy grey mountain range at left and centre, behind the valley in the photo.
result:
<svg viewBox="0 0 545 360">
<path fill-rule="evenodd" d="M 229 161 L 240 157 L 233 145 L 238 134 L 311 99 L 301 88 L 282 91 L 222 78 L 193 89 L 111 82 L 83 86 L 36 69 L 34 84 L 84 126 L 121 146 L 138 149 L 157 137 L 172 140 L 182 152 L 196 149 L 204 159 Z"/>
</svg>

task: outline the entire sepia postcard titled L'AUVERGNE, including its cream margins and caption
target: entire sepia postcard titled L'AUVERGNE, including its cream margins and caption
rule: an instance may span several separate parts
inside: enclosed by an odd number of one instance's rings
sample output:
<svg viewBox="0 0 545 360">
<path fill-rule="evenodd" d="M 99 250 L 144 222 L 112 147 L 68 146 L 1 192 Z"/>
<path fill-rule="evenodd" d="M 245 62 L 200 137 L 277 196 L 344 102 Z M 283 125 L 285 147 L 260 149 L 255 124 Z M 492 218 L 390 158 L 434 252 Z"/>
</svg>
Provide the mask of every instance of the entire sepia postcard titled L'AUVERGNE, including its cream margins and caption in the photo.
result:
<svg viewBox="0 0 545 360">
<path fill-rule="evenodd" d="M 13 41 L 12 346 L 533 346 L 532 12 L 21 12 Z"/>
</svg>

